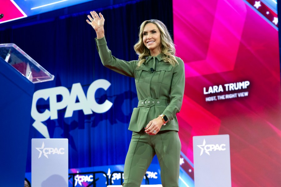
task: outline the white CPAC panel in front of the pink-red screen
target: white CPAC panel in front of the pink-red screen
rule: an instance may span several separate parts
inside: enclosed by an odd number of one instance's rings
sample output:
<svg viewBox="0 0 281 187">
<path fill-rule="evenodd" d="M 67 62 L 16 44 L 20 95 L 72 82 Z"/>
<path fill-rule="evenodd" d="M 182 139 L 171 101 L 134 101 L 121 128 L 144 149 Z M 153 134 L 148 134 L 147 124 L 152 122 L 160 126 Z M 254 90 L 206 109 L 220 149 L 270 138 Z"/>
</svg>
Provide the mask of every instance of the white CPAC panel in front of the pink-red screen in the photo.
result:
<svg viewBox="0 0 281 187">
<path fill-rule="evenodd" d="M 195 187 L 231 187 L 229 135 L 193 137 Z"/>
</svg>

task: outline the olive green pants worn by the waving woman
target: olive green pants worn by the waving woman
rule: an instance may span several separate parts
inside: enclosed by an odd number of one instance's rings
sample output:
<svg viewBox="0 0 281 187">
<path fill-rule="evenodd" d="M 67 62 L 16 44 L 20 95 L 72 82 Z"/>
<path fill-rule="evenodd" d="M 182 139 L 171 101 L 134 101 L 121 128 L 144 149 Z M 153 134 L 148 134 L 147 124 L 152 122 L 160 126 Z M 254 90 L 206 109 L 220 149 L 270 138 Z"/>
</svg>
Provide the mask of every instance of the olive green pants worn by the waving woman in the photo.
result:
<svg viewBox="0 0 281 187">
<path fill-rule="evenodd" d="M 179 187 L 180 138 L 176 131 L 160 131 L 148 135 L 133 132 L 124 166 L 123 187 L 139 187 L 154 155 L 161 169 L 163 187 Z"/>
</svg>

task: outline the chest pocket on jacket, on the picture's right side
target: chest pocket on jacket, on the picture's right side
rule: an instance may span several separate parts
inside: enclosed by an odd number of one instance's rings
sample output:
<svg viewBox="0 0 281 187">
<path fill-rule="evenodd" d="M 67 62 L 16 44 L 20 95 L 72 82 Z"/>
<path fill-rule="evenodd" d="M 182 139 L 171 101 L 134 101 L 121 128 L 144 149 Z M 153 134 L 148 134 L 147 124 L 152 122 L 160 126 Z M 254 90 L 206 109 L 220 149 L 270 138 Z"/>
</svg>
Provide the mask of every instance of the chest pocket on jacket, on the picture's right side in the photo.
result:
<svg viewBox="0 0 281 187">
<path fill-rule="evenodd" d="M 172 65 L 165 64 L 164 66 L 160 66 L 156 68 L 155 75 L 153 76 L 151 82 L 160 82 L 162 84 L 170 85 L 173 72 Z"/>
</svg>

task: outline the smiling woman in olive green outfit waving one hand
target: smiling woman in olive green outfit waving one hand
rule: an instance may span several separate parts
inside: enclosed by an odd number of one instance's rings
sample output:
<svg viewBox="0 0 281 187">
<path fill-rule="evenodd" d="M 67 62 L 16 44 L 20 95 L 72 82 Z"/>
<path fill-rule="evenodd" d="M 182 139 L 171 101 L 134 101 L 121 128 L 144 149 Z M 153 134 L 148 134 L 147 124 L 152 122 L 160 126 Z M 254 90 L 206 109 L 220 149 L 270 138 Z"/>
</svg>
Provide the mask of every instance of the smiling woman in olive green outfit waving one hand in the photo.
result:
<svg viewBox="0 0 281 187">
<path fill-rule="evenodd" d="M 96 31 L 96 46 L 103 65 L 136 81 L 139 103 L 129 125 L 133 134 L 123 186 L 140 186 L 156 154 L 163 187 L 178 187 L 181 144 L 176 113 L 183 100 L 185 71 L 183 61 L 174 56 L 175 47 L 166 26 L 159 20 L 143 22 L 134 46 L 139 60 L 127 62 L 113 57 L 106 46 L 103 15 L 90 13 L 86 22 Z"/>
</svg>

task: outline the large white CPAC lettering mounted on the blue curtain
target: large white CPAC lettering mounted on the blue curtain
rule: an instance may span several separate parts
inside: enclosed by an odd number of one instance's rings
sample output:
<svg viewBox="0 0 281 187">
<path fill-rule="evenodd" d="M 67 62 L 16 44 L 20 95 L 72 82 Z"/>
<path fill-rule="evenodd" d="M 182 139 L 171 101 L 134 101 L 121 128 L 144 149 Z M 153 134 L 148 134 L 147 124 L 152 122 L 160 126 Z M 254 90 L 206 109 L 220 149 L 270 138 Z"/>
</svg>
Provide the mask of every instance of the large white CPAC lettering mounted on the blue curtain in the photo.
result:
<svg viewBox="0 0 281 187">
<path fill-rule="evenodd" d="M 95 99 L 96 90 L 102 88 L 107 90 L 111 83 L 105 79 L 99 79 L 91 83 L 88 88 L 87 95 L 82 89 L 80 83 L 75 83 L 69 92 L 66 87 L 58 86 L 54 88 L 47 88 L 38 90 L 33 94 L 31 116 L 35 120 L 32 124 L 45 138 L 50 138 L 47 127 L 42 123 L 47 119 L 57 119 L 57 111 L 66 108 L 64 117 L 71 117 L 73 111 L 83 110 L 85 115 L 95 113 L 104 113 L 108 111 L 112 103 L 106 100 L 102 104 L 98 104 Z M 57 96 L 61 95 L 62 100 L 57 101 Z M 37 101 L 43 98 L 50 101 L 50 110 L 46 109 L 44 112 L 38 112 L 36 108 Z M 79 102 L 76 102 L 78 98 Z"/>
</svg>

